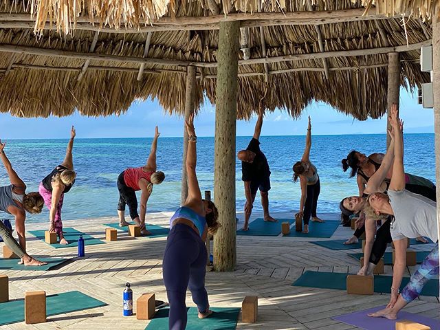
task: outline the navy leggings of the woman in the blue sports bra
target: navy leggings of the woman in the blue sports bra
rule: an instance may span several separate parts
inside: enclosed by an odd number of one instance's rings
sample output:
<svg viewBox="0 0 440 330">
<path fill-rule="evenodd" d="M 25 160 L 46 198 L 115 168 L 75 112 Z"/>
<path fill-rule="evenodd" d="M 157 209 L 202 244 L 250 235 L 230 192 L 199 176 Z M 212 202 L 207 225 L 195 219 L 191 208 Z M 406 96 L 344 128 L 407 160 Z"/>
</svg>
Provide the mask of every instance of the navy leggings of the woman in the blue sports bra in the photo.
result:
<svg viewBox="0 0 440 330">
<path fill-rule="evenodd" d="M 208 309 L 205 289 L 208 253 L 200 236 L 188 225 L 177 223 L 166 239 L 162 268 L 168 303 L 170 303 L 169 330 L 186 328 L 186 288 L 199 311 Z"/>
</svg>

